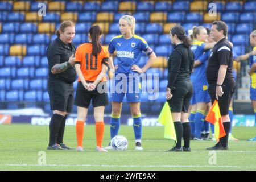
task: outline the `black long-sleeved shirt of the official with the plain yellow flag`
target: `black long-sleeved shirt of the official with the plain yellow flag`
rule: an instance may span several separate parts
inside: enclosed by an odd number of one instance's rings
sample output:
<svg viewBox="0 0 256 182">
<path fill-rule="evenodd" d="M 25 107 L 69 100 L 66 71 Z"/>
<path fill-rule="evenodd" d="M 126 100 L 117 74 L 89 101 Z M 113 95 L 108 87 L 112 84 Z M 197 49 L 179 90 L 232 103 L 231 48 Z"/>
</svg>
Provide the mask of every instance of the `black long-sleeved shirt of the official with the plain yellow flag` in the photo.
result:
<svg viewBox="0 0 256 182">
<path fill-rule="evenodd" d="M 176 81 L 190 80 L 194 54 L 184 44 L 178 44 L 168 57 L 168 88 L 172 88 Z"/>
</svg>

